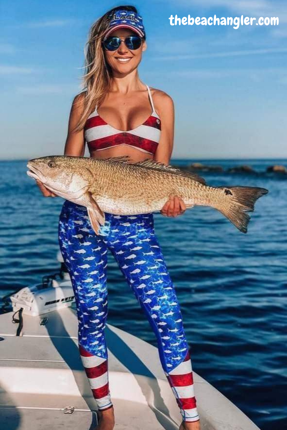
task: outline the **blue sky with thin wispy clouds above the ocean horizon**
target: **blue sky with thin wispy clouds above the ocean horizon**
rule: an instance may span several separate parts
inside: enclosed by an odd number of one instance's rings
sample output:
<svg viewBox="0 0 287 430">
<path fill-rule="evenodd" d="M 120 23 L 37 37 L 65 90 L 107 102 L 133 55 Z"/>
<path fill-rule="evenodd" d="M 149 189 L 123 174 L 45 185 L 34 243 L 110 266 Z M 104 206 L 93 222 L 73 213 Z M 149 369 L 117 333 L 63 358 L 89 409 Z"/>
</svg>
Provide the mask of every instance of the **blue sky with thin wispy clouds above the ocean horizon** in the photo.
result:
<svg viewBox="0 0 287 430">
<path fill-rule="evenodd" d="M 89 27 L 120 4 L 2 1 L 1 159 L 63 154 Z M 127 4 L 139 9 L 147 33 L 139 76 L 175 103 L 173 158 L 287 158 L 286 1 Z M 188 14 L 278 16 L 279 25 L 170 25 L 170 15 Z"/>
</svg>

